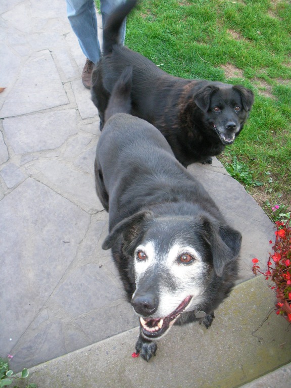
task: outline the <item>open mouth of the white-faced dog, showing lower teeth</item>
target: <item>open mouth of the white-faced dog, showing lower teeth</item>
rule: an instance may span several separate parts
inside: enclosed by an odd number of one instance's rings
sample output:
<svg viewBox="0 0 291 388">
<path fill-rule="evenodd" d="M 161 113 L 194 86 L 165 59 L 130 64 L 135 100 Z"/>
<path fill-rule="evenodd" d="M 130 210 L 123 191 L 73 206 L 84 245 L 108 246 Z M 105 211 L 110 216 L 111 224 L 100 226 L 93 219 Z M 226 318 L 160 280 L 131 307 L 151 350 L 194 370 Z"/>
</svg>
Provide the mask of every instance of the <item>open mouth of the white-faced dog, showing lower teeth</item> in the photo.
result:
<svg viewBox="0 0 291 388">
<path fill-rule="evenodd" d="M 142 334 L 144 337 L 148 338 L 157 338 L 164 334 L 169 327 L 175 322 L 178 316 L 185 310 L 188 306 L 191 296 L 186 297 L 183 302 L 168 316 L 160 319 L 147 319 L 139 318 Z"/>
</svg>

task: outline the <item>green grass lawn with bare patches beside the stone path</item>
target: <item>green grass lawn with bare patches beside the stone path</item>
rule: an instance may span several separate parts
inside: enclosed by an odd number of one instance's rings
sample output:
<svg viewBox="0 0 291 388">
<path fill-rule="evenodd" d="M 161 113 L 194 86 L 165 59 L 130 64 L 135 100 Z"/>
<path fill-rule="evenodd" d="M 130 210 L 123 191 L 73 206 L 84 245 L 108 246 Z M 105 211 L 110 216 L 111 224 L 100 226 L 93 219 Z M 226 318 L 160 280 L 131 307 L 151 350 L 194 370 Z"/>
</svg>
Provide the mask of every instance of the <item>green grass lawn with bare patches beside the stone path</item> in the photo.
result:
<svg viewBox="0 0 291 388">
<path fill-rule="evenodd" d="M 272 219 L 290 211 L 289 1 L 141 0 L 128 17 L 125 43 L 172 75 L 254 91 L 248 123 L 218 159 Z"/>
</svg>

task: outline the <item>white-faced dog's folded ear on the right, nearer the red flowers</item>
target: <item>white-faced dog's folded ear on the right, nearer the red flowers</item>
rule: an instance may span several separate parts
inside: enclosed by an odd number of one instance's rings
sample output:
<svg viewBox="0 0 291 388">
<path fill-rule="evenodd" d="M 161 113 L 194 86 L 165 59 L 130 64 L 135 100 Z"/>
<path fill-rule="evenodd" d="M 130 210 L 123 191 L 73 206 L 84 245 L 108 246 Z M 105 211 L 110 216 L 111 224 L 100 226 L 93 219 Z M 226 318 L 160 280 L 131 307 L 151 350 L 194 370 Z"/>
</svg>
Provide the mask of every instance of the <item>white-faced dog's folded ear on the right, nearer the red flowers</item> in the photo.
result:
<svg viewBox="0 0 291 388">
<path fill-rule="evenodd" d="M 241 234 L 227 225 L 214 225 L 209 220 L 204 223 L 211 246 L 213 266 L 216 274 L 222 276 L 226 264 L 236 260 L 240 246 Z"/>
</svg>

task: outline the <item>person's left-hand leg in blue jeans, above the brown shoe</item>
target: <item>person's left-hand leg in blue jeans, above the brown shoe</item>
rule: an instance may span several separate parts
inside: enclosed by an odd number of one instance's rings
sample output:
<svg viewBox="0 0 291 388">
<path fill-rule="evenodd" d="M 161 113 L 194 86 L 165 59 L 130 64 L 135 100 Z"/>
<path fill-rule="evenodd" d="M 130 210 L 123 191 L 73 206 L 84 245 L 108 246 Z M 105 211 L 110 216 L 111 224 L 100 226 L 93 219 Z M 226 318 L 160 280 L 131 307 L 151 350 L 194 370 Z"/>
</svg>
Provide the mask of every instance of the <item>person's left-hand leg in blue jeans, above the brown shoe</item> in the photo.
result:
<svg viewBox="0 0 291 388">
<path fill-rule="evenodd" d="M 82 52 L 96 64 L 101 56 L 94 0 L 66 0 L 67 16 Z"/>
</svg>

